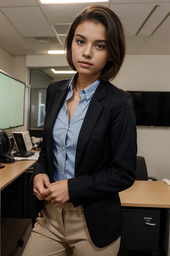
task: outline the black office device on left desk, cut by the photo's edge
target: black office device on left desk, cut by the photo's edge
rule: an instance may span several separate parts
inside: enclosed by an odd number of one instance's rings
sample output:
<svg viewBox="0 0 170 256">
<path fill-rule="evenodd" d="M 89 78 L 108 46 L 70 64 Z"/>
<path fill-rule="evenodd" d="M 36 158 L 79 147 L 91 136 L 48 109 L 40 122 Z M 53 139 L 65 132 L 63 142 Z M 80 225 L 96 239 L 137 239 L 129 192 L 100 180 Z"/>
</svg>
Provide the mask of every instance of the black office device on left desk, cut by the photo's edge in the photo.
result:
<svg viewBox="0 0 170 256">
<path fill-rule="evenodd" d="M 0 162 L 1 163 L 12 163 L 15 159 L 9 156 L 11 151 L 10 141 L 7 133 L 4 130 L 0 130 Z"/>
</svg>

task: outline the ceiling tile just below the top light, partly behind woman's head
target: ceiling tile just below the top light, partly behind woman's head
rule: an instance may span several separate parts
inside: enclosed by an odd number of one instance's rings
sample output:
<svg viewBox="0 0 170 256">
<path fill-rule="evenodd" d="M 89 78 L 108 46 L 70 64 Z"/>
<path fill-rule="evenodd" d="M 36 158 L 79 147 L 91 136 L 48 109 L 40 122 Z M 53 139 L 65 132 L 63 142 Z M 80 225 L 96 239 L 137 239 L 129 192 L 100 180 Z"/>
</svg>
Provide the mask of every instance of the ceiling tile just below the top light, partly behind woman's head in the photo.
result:
<svg viewBox="0 0 170 256">
<path fill-rule="evenodd" d="M 53 25 L 56 23 L 72 23 L 73 17 L 88 5 L 89 4 L 58 4 L 43 5 L 41 8 L 49 22 Z M 101 5 L 108 7 L 108 4 Z"/>
</svg>

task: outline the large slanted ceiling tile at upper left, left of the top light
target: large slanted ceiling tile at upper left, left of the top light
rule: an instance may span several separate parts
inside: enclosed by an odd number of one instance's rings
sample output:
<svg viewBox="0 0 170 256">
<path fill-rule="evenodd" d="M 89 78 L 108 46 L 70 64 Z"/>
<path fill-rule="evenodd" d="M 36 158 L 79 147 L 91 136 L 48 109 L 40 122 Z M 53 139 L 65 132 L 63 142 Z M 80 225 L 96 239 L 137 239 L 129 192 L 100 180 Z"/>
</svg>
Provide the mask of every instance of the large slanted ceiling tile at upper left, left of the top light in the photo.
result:
<svg viewBox="0 0 170 256">
<path fill-rule="evenodd" d="M 1 8 L 22 36 L 55 36 L 39 7 Z"/>
</svg>

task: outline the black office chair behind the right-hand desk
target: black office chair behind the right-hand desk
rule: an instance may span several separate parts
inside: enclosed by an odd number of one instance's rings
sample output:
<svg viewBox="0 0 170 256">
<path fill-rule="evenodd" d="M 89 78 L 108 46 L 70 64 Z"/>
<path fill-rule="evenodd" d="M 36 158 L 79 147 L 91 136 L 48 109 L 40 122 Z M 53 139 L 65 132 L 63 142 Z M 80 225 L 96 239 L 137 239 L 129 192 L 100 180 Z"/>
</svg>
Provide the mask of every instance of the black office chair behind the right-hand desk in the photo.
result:
<svg viewBox="0 0 170 256">
<path fill-rule="evenodd" d="M 148 180 L 156 181 L 155 177 L 148 177 L 145 159 L 143 156 L 137 156 L 136 164 L 136 180 Z"/>
</svg>

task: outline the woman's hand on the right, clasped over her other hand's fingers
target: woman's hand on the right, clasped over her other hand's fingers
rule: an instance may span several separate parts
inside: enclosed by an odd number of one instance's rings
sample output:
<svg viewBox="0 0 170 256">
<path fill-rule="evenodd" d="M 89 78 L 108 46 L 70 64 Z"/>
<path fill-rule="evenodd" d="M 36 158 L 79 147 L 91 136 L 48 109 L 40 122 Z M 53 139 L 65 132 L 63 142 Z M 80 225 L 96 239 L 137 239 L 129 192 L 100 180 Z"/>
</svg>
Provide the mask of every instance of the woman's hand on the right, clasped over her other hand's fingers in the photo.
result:
<svg viewBox="0 0 170 256">
<path fill-rule="evenodd" d="M 48 188 L 43 190 L 41 197 L 46 201 L 51 201 L 54 206 L 65 203 L 70 199 L 68 191 L 68 179 L 56 181 L 48 185 Z"/>
</svg>

